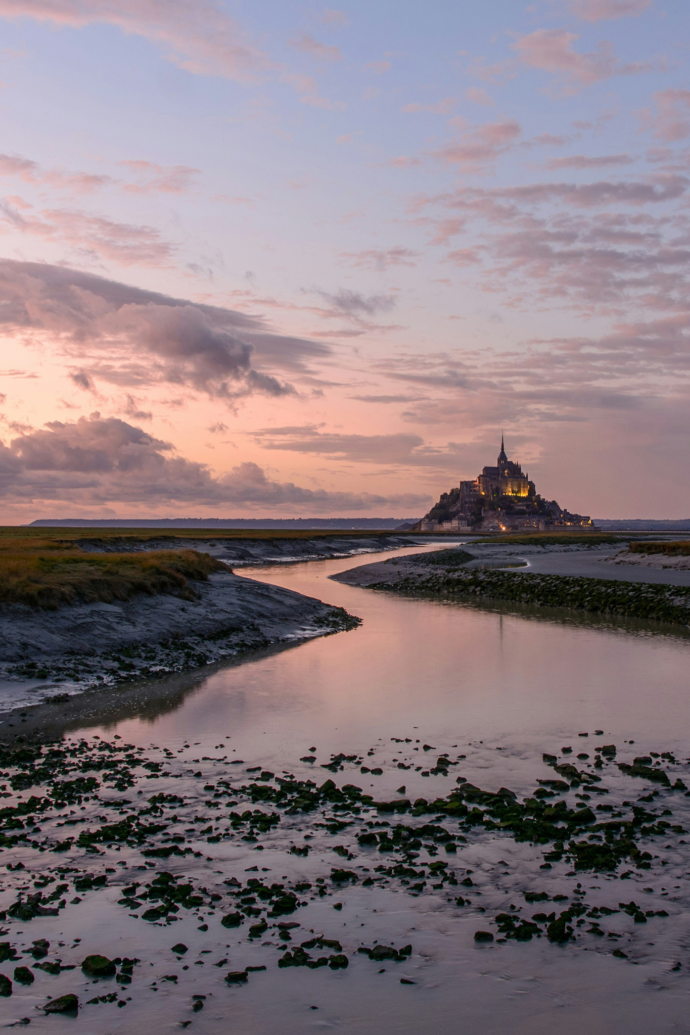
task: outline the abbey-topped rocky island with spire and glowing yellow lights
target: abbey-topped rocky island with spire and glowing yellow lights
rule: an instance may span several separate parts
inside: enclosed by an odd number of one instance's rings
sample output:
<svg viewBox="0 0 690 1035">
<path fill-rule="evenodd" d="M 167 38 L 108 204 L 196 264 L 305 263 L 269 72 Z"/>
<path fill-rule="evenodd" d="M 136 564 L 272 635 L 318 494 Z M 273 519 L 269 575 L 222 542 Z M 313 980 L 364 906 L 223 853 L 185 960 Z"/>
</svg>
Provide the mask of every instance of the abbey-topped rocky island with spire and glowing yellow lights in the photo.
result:
<svg viewBox="0 0 690 1035">
<path fill-rule="evenodd" d="M 508 532 L 520 529 L 594 528 L 591 518 L 563 510 L 556 500 L 539 496 L 519 464 L 501 452 L 496 467 L 485 467 L 474 481 L 461 481 L 444 493 L 415 526 L 420 532 Z"/>
</svg>

